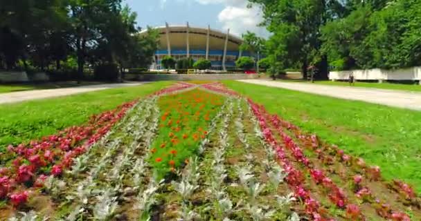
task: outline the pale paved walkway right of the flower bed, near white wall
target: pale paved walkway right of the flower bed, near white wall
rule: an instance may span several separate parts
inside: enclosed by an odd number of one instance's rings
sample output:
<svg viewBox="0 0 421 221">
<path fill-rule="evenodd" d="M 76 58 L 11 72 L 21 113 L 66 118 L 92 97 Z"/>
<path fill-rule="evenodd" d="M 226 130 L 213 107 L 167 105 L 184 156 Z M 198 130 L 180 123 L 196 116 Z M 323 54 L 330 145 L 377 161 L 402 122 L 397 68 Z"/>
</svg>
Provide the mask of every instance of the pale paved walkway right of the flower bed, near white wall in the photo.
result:
<svg viewBox="0 0 421 221">
<path fill-rule="evenodd" d="M 405 92 L 400 90 L 384 90 L 377 88 L 357 88 L 350 86 L 325 86 L 307 83 L 285 83 L 271 80 L 239 80 L 251 84 L 260 84 L 276 88 L 299 90 L 306 93 L 338 97 L 342 99 L 354 99 L 375 104 L 384 104 L 398 108 L 408 108 L 421 111 L 421 93 Z"/>
</svg>

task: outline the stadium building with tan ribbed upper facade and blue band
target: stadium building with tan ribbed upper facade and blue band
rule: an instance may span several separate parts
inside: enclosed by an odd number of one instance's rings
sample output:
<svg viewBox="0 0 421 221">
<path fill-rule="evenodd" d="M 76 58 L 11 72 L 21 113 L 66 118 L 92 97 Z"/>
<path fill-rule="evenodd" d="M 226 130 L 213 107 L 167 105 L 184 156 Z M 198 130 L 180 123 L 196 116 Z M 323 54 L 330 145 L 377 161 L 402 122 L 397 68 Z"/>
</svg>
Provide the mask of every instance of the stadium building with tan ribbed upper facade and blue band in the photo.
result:
<svg viewBox="0 0 421 221">
<path fill-rule="evenodd" d="M 161 59 L 170 55 L 176 60 L 191 57 L 194 61 L 200 58 L 212 63 L 212 70 L 229 70 L 235 68 L 235 61 L 241 56 L 250 56 L 249 52 L 240 52 L 242 39 L 227 32 L 199 27 L 165 26 L 159 30 L 159 46 L 154 55 L 150 69 L 163 69 Z M 146 31 L 141 32 L 145 33 Z"/>
</svg>

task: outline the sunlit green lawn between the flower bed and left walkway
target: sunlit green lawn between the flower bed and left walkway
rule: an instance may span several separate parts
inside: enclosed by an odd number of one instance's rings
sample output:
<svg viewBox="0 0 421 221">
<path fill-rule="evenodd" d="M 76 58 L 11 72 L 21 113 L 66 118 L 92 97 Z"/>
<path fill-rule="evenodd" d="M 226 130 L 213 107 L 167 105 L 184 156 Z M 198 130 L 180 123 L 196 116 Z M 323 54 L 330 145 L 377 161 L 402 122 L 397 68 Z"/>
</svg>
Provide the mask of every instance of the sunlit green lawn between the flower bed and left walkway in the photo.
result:
<svg viewBox="0 0 421 221">
<path fill-rule="evenodd" d="M 123 102 L 148 95 L 170 84 L 170 81 L 159 81 L 141 86 L 0 105 L 0 149 L 8 144 L 27 142 L 54 134 L 68 126 L 83 124 L 93 114 L 111 110 Z"/>
</svg>

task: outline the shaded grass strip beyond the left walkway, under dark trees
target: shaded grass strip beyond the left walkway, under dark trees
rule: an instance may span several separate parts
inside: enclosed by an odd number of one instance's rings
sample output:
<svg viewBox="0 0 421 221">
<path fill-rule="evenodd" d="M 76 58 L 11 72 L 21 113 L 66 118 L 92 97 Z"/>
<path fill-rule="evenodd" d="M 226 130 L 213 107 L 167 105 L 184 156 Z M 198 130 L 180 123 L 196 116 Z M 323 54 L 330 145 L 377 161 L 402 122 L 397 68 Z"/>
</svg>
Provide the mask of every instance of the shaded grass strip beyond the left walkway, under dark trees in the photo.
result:
<svg viewBox="0 0 421 221">
<path fill-rule="evenodd" d="M 64 82 L 47 82 L 39 84 L 0 84 L 0 93 L 10 93 L 23 90 L 39 90 L 39 89 L 52 89 L 52 88 L 69 88 L 75 86 L 85 86 L 91 84 L 101 84 L 101 82 L 84 81 L 77 84 L 76 81 Z"/>
</svg>

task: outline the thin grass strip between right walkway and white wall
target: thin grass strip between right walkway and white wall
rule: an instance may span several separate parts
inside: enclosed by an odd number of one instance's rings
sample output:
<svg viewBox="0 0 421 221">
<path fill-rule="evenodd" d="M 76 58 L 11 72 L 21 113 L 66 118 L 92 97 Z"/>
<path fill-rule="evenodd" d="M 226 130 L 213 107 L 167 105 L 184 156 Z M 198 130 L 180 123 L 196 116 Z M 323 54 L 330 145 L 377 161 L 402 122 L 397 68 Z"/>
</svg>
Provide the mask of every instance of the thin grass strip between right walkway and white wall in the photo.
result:
<svg viewBox="0 0 421 221">
<path fill-rule="evenodd" d="M 289 82 L 299 82 L 299 83 L 308 83 L 309 81 L 304 80 L 287 80 Z M 323 85 L 332 85 L 332 86 L 350 86 L 348 82 L 343 81 L 315 81 L 314 84 L 323 84 Z M 368 83 L 368 82 L 355 82 L 355 87 L 363 88 L 379 88 L 379 89 L 389 89 L 389 90 L 409 90 L 409 91 L 418 91 L 421 92 L 421 85 L 418 84 L 394 84 L 384 82 L 379 84 L 377 82 Z"/>
</svg>

